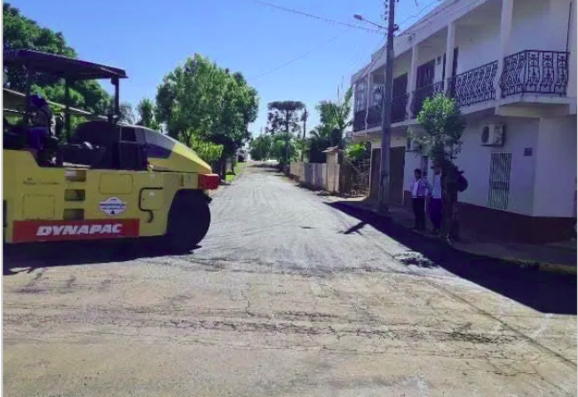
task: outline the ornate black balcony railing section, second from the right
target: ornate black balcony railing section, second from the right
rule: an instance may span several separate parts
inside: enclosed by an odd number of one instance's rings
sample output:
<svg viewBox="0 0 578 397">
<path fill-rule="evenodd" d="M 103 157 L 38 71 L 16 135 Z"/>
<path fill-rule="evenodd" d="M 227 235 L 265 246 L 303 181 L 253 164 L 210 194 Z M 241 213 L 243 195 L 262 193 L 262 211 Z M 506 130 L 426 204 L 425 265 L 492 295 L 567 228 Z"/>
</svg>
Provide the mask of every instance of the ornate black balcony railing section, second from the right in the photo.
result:
<svg viewBox="0 0 578 397">
<path fill-rule="evenodd" d="M 487 63 L 447 79 L 447 96 L 455 99 L 458 107 L 495 99 L 495 75 L 498 61 Z"/>
</svg>

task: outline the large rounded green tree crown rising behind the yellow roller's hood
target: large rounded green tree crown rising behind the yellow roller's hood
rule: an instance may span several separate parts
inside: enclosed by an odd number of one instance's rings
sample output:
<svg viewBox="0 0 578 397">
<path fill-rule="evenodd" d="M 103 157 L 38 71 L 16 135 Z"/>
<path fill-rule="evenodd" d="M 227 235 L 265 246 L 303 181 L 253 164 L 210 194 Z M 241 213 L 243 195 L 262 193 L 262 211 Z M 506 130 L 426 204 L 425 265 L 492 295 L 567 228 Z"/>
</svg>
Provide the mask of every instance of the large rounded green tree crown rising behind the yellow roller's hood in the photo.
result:
<svg viewBox="0 0 578 397">
<path fill-rule="evenodd" d="M 191 137 L 223 146 L 232 155 L 249 139 L 249 123 L 257 118 L 257 91 L 244 77 L 195 54 L 162 80 L 154 115 L 169 135 L 183 142 Z"/>
</svg>

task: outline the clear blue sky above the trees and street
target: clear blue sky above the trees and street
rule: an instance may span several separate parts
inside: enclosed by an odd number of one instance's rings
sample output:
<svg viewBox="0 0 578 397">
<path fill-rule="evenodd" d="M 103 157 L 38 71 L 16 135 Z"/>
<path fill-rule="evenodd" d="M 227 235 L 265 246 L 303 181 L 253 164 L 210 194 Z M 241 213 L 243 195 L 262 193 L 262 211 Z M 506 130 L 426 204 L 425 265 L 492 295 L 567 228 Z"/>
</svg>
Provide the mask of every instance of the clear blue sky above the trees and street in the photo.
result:
<svg viewBox="0 0 578 397">
<path fill-rule="evenodd" d="M 162 77 L 195 52 L 241 72 L 257 89 L 259 112 L 249 131 L 266 126 L 267 103 L 301 100 L 310 112 L 307 131 L 319 123 L 320 100 L 343 96 L 351 76 L 384 44 L 383 0 L 17 0 L 9 2 L 40 26 L 60 31 L 80 59 L 122 67 L 121 100 L 133 107 L 154 99 Z M 407 28 L 439 0 L 400 0 L 396 23 Z M 102 82 L 105 88 L 109 85 Z"/>
</svg>

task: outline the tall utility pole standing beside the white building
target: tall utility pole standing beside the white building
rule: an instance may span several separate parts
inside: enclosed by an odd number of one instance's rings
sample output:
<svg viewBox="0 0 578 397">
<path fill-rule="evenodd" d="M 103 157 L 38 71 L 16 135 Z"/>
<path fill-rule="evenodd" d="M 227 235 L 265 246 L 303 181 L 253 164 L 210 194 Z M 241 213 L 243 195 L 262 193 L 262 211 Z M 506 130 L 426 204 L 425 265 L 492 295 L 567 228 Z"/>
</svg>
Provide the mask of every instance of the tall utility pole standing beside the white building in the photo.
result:
<svg viewBox="0 0 578 397">
<path fill-rule="evenodd" d="M 381 115 L 381 169 L 377 210 L 389 213 L 390 205 L 390 148 L 392 146 L 392 89 L 393 89 L 393 32 L 395 31 L 395 2 L 384 0 L 387 20 L 387 47 L 385 53 L 385 84 Z M 388 7 L 389 3 L 389 7 Z M 388 10 L 389 8 L 389 10 Z"/>
</svg>

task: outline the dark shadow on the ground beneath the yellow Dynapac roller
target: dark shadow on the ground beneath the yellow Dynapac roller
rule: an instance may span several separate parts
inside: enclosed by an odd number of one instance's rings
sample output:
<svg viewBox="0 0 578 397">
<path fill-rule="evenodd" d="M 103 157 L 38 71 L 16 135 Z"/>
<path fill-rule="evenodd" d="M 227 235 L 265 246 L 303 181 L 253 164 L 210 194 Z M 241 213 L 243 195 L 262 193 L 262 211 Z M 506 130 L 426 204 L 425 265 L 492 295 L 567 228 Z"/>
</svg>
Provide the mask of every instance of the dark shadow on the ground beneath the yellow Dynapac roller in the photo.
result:
<svg viewBox="0 0 578 397">
<path fill-rule="evenodd" d="M 200 246 L 196 247 L 196 249 Z M 146 237 L 135 241 L 45 242 L 4 246 L 3 274 L 31 273 L 40 267 L 75 266 L 126 262 L 139 258 L 184 255 L 162 239 Z"/>
</svg>

